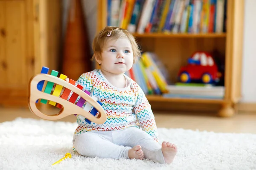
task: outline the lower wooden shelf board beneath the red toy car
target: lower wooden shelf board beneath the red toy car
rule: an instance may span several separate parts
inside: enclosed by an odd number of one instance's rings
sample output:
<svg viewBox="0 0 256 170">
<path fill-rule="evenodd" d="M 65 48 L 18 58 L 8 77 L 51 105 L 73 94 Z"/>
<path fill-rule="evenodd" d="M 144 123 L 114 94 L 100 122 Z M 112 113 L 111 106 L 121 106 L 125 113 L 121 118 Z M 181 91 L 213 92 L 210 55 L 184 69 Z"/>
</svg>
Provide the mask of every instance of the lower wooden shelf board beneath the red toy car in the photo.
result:
<svg viewBox="0 0 256 170">
<path fill-rule="evenodd" d="M 186 99 L 186 98 L 167 98 L 159 95 L 146 96 L 149 102 L 187 102 L 187 103 L 212 103 L 222 104 L 225 103 L 224 99 Z"/>
</svg>

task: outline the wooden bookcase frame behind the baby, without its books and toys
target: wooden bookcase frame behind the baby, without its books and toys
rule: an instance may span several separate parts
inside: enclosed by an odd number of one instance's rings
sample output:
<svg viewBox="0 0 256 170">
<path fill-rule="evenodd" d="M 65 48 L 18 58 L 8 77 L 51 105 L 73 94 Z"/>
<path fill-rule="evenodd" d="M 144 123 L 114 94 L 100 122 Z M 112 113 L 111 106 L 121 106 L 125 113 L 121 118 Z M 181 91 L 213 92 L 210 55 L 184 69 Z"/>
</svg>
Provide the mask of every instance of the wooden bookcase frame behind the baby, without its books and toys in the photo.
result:
<svg viewBox="0 0 256 170">
<path fill-rule="evenodd" d="M 98 0 L 97 32 L 107 26 L 107 0 Z M 217 51 L 225 63 L 223 99 L 166 98 L 148 95 L 150 103 L 161 108 L 162 105 L 197 105 L 209 108 L 218 105 L 218 115 L 233 116 L 241 98 L 241 63 L 243 48 L 244 1 L 227 0 L 227 27 L 224 33 L 134 33 L 143 51 L 152 51 L 165 64 L 172 82 L 177 81 L 180 66 L 185 65 L 194 51 Z M 96 68 L 99 68 L 96 65 Z M 163 104 L 161 104 L 163 103 Z M 168 108 L 168 106 L 167 106 Z M 196 110 L 193 108 L 193 110 Z"/>
</svg>

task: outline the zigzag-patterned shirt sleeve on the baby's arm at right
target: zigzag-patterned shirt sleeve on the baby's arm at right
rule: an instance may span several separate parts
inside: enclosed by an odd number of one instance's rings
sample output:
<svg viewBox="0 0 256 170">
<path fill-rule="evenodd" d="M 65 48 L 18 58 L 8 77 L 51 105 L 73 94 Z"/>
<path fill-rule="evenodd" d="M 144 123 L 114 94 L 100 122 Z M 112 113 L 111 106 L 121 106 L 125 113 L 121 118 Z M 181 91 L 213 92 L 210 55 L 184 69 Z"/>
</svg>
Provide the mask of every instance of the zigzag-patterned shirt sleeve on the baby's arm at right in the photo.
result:
<svg viewBox="0 0 256 170">
<path fill-rule="evenodd" d="M 157 125 L 151 105 L 148 102 L 143 90 L 137 85 L 137 101 L 134 105 L 134 113 L 143 131 L 147 132 L 155 141 L 158 142 Z"/>
</svg>

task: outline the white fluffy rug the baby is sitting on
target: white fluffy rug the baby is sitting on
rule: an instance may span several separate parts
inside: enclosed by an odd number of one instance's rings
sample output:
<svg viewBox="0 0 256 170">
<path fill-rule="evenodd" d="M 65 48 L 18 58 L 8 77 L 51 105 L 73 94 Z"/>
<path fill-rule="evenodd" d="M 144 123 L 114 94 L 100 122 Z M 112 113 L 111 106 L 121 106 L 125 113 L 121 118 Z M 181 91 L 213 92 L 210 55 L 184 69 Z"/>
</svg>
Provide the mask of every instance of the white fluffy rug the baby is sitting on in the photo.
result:
<svg viewBox="0 0 256 170">
<path fill-rule="evenodd" d="M 256 134 L 159 128 L 160 142 L 177 144 L 173 164 L 87 158 L 73 152 L 76 123 L 17 118 L 0 124 L 0 170 L 255 170 Z M 71 159 L 51 166 L 65 153 Z"/>
</svg>

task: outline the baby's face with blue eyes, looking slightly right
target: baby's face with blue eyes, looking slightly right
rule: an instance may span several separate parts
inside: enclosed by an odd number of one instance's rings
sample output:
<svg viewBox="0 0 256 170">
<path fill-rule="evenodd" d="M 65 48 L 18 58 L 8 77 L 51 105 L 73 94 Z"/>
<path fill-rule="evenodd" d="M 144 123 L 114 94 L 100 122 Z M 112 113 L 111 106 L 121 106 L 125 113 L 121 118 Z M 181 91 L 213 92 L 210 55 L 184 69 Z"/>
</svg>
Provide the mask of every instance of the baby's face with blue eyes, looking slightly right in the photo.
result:
<svg viewBox="0 0 256 170">
<path fill-rule="evenodd" d="M 123 37 L 118 40 L 108 40 L 101 53 L 101 59 L 96 59 L 101 69 L 111 74 L 124 74 L 133 65 L 131 42 Z"/>
</svg>

